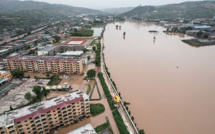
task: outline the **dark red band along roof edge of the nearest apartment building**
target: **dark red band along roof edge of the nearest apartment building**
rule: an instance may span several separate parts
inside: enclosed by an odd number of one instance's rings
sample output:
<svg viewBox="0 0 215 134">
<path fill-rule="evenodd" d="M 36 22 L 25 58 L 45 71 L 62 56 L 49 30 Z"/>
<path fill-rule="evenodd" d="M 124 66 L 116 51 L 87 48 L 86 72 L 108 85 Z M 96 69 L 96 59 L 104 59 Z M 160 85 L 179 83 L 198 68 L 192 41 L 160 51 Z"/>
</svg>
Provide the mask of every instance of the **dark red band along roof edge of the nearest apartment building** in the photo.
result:
<svg viewBox="0 0 215 134">
<path fill-rule="evenodd" d="M 26 119 L 29 119 L 29 118 L 33 118 L 33 117 L 37 116 L 38 114 L 47 113 L 48 111 L 51 111 L 51 110 L 54 110 L 54 109 L 57 109 L 57 108 L 61 108 L 66 104 L 72 104 L 72 103 L 75 103 L 75 102 L 78 102 L 78 101 L 81 101 L 81 100 L 83 100 L 83 97 L 79 97 L 79 98 L 76 98 L 76 99 L 73 99 L 73 100 L 70 100 L 70 101 L 64 101 L 61 104 L 51 106 L 51 107 L 46 108 L 46 109 L 37 110 L 34 113 L 31 113 L 31 114 L 28 114 L 28 115 L 25 115 L 25 116 L 22 116 L 22 117 L 14 119 L 14 123 L 17 123 L 17 122 L 20 122 L 20 121 L 23 121 L 23 120 L 26 120 Z"/>
</svg>

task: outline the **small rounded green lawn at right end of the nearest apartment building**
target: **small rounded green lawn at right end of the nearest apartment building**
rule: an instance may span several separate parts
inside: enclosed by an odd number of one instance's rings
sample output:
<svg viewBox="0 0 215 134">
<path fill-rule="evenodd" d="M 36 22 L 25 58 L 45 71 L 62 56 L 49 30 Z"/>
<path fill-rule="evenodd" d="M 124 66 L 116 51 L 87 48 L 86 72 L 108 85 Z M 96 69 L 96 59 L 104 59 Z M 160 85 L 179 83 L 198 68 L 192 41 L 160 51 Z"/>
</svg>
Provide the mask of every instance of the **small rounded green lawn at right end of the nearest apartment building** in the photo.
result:
<svg viewBox="0 0 215 134">
<path fill-rule="evenodd" d="M 92 116 L 99 115 L 105 111 L 104 105 L 99 104 L 90 104 L 90 113 Z"/>
</svg>

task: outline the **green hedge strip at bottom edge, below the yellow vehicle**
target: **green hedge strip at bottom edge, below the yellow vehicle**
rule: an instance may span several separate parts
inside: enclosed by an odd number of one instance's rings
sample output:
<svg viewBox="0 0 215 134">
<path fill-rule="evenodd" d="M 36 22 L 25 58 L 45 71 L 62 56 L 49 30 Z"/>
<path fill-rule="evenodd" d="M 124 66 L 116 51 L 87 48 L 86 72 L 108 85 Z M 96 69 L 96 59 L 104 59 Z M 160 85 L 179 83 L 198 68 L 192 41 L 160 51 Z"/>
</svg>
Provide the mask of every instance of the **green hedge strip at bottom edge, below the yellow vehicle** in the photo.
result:
<svg viewBox="0 0 215 134">
<path fill-rule="evenodd" d="M 127 127 L 125 126 L 119 111 L 116 109 L 112 112 L 112 114 L 113 114 L 114 120 L 117 124 L 120 134 L 129 134 Z"/>
</svg>

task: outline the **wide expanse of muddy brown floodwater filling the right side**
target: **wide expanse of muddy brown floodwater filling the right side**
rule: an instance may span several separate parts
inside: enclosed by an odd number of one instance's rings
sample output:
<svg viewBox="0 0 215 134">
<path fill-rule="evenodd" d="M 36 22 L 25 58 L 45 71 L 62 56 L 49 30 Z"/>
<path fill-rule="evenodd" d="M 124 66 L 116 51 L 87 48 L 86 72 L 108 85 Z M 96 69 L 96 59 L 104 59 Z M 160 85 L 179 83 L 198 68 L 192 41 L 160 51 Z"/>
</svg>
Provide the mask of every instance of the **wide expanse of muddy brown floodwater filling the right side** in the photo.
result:
<svg viewBox="0 0 215 134">
<path fill-rule="evenodd" d="M 190 37 L 163 30 L 143 22 L 108 24 L 111 76 L 146 134 L 215 134 L 215 46 L 191 47 L 181 41 Z"/>
</svg>

